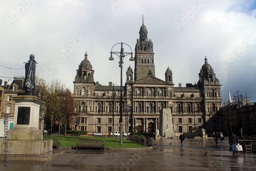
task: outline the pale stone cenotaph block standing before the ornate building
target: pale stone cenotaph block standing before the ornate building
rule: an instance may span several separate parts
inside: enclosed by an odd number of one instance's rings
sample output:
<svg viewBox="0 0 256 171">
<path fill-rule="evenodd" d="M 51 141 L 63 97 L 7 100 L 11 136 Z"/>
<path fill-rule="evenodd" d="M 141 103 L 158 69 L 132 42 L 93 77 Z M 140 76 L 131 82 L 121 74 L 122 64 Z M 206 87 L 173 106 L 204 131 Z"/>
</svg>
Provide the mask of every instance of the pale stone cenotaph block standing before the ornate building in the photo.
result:
<svg viewBox="0 0 256 171">
<path fill-rule="evenodd" d="M 173 137 L 173 117 L 170 109 L 163 109 L 160 112 L 159 134 L 164 137 Z"/>
</svg>

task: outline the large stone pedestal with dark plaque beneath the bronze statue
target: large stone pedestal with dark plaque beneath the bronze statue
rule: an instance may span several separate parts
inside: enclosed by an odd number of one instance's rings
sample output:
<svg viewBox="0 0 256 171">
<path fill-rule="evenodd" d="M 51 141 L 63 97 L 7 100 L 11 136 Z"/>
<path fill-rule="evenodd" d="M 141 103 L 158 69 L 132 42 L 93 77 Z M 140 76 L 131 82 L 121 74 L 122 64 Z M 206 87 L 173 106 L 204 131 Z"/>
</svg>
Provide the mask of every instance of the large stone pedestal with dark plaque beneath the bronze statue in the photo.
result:
<svg viewBox="0 0 256 171">
<path fill-rule="evenodd" d="M 52 151 L 52 140 L 43 140 L 39 126 L 40 99 L 33 95 L 18 95 L 15 100 L 13 129 L 0 143 L 0 154 L 40 155 Z"/>
</svg>

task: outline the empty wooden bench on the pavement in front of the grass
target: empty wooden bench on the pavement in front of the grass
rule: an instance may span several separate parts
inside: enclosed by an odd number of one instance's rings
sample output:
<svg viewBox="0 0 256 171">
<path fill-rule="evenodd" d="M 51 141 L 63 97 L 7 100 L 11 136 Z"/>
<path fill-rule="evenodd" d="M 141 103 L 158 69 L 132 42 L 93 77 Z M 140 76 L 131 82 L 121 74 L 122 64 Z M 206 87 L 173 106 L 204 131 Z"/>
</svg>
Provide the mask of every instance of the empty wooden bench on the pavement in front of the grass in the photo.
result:
<svg viewBox="0 0 256 171">
<path fill-rule="evenodd" d="M 79 139 L 76 142 L 76 150 L 78 147 L 83 148 L 100 148 L 104 151 L 105 148 L 105 141 L 103 140 L 84 140 Z"/>
</svg>

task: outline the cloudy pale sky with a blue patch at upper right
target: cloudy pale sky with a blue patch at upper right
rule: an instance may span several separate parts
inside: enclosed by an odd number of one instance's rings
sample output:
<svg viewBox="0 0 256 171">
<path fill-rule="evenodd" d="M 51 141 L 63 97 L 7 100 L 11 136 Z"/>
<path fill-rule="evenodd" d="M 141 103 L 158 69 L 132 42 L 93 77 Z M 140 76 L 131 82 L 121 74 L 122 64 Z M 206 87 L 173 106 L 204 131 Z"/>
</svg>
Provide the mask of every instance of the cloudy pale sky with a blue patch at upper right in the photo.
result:
<svg viewBox="0 0 256 171">
<path fill-rule="evenodd" d="M 154 44 L 157 78 L 165 80 L 169 67 L 175 87 L 197 83 L 206 56 L 222 84 L 223 102 L 229 90 L 231 97 L 240 91 L 256 101 L 256 1 L 249 0 L 1 1 L 0 79 L 25 76 L 25 62 L 34 54 L 38 77 L 58 79 L 73 92 L 87 52 L 94 81 L 120 85 L 118 59 L 110 61 L 110 51 L 124 42 L 134 52 L 142 15 Z M 129 66 L 134 70 L 125 57 L 123 83 Z"/>
</svg>

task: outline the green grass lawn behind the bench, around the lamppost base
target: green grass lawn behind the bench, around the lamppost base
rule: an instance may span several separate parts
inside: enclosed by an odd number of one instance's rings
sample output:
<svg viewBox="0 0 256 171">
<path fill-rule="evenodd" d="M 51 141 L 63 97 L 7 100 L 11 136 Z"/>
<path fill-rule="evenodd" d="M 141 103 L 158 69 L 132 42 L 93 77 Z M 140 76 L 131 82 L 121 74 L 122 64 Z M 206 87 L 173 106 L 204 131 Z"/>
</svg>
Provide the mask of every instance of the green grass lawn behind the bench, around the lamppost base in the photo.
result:
<svg viewBox="0 0 256 171">
<path fill-rule="evenodd" d="M 130 140 L 124 139 L 123 144 L 120 145 L 120 138 L 112 137 L 94 137 L 94 136 L 52 136 L 49 138 L 48 135 L 44 136 L 44 139 L 60 139 L 60 146 L 76 146 L 77 139 L 87 139 L 87 140 L 105 140 L 106 148 L 143 148 L 142 144 L 136 144 Z"/>
</svg>

